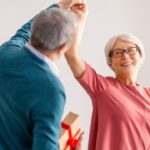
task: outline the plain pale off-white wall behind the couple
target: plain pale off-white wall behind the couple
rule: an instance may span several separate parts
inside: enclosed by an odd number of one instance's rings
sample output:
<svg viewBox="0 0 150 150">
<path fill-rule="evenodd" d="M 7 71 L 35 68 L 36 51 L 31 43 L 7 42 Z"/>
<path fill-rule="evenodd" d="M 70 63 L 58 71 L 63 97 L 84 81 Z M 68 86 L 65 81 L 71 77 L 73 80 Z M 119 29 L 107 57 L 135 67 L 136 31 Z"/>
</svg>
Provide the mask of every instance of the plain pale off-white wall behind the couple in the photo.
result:
<svg viewBox="0 0 150 150">
<path fill-rule="evenodd" d="M 54 0 L 0 0 L 0 44 L 15 34 L 24 23 Z M 131 32 L 144 44 L 146 61 L 140 69 L 137 82 L 150 85 L 150 1 L 148 0 L 88 0 L 86 21 L 80 54 L 98 73 L 113 76 L 106 64 L 104 47 L 108 39 L 120 32 Z M 60 79 L 67 95 L 63 117 L 73 111 L 80 115 L 84 130 L 83 150 L 87 150 L 92 104 L 89 96 L 74 79 L 62 57 L 58 62 Z"/>
</svg>

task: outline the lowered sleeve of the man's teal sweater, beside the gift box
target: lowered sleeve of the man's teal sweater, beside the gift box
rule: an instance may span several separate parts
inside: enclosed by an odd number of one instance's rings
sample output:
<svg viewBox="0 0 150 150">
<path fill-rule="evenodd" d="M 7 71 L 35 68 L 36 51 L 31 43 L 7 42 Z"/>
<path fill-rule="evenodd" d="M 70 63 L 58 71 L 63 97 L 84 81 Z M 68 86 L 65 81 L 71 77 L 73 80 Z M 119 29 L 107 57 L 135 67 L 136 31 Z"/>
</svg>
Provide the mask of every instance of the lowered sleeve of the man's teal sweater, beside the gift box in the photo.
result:
<svg viewBox="0 0 150 150">
<path fill-rule="evenodd" d="M 58 89 L 40 94 L 43 96 L 37 94 L 36 103 L 32 108 L 32 150 L 59 150 L 58 140 L 65 95 Z"/>
</svg>

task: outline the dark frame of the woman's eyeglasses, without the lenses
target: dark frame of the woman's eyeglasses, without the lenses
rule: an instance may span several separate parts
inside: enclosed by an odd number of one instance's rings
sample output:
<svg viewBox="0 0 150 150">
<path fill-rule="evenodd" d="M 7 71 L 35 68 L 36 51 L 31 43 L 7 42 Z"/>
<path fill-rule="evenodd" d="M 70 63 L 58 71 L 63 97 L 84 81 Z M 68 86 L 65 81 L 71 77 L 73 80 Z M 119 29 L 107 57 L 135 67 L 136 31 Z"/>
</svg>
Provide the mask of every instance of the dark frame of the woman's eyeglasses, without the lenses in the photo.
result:
<svg viewBox="0 0 150 150">
<path fill-rule="evenodd" d="M 133 54 L 129 54 L 129 53 L 128 53 L 128 50 L 131 49 L 131 48 L 135 48 L 135 49 L 136 49 L 135 53 L 133 53 Z M 122 54 L 121 54 L 120 56 L 115 56 L 115 55 L 113 55 L 113 52 L 114 52 L 114 51 L 117 51 L 117 50 L 122 50 L 122 51 L 121 51 Z M 129 56 L 132 56 L 132 55 L 135 55 L 135 54 L 137 53 L 137 51 L 139 51 L 139 48 L 138 48 L 137 46 L 135 46 L 135 47 L 129 47 L 129 48 L 127 48 L 127 49 L 111 50 L 111 51 L 110 51 L 110 54 L 109 54 L 109 57 L 114 56 L 114 57 L 119 58 L 119 57 L 122 57 L 122 56 L 124 55 L 124 53 L 128 54 Z"/>
</svg>

